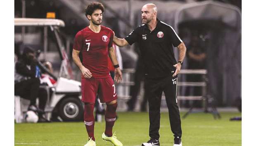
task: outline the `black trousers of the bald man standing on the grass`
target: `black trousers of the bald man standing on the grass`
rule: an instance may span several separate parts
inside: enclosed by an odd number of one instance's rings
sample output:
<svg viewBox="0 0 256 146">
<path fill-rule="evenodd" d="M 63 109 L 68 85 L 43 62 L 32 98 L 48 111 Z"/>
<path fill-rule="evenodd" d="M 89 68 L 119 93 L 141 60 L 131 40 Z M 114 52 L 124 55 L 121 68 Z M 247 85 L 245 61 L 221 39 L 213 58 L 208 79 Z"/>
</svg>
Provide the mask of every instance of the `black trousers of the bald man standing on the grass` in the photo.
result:
<svg viewBox="0 0 256 146">
<path fill-rule="evenodd" d="M 177 104 L 177 83 L 177 76 L 145 79 L 145 93 L 149 100 L 149 136 L 152 139 L 159 139 L 160 106 L 163 91 L 169 111 L 171 131 L 175 137 L 181 137 L 182 135 L 180 112 Z"/>
</svg>

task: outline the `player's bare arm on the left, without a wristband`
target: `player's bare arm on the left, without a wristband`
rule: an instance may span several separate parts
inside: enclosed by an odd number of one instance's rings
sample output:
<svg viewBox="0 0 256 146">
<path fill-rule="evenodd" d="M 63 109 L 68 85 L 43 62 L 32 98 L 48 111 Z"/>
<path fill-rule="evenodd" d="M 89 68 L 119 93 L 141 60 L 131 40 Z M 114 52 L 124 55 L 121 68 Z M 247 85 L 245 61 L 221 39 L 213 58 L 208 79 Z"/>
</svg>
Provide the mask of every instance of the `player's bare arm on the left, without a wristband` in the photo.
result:
<svg viewBox="0 0 256 146">
<path fill-rule="evenodd" d="M 92 77 L 92 73 L 90 72 L 90 70 L 88 70 L 87 68 L 85 68 L 83 66 L 83 64 L 81 63 L 81 60 L 79 58 L 79 53 L 80 51 L 73 49 L 72 51 L 72 58 L 74 63 L 78 66 L 78 68 L 81 70 L 82 75 L 85 78 L 91 78 Z"/>
</svg>

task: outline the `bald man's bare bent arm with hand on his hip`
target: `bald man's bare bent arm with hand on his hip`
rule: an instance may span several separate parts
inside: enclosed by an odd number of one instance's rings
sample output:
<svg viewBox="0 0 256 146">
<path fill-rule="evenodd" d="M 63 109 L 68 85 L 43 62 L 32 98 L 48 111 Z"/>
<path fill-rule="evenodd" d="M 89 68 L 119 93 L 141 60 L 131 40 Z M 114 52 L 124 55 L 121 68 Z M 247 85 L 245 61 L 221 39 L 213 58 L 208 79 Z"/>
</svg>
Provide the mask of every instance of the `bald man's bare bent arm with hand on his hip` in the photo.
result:
<svg viewBox="0 0 256 146">
<path fill-rule="evenodd" d="M 185 46 L 185 44 L 183 42 L 181 42 L 177 47 L 178 47 L 178 50 L 179 50 L 179 59 L 178 59 L 178 61 L 183 62 L 183 60 L 185 58 L 185 55 L 186 55 L 187 48 L 186 48 L 186 46 Z M 180 72 L 181 63 L 177 63 L 177 64 L 175 64 L 173 66 L 176 67 L 176 71 L 173 74 L 173 76 L 176 76 Z"/>
</svg>

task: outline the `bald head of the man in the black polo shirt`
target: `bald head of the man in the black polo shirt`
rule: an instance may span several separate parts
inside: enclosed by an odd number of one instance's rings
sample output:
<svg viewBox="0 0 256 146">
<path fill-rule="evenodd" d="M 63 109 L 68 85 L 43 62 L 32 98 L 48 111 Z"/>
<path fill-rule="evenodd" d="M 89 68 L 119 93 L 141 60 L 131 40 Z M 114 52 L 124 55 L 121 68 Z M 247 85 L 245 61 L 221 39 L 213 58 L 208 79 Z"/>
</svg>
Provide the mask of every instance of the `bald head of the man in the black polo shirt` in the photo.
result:
<svg viewBox="0 0 256 146">
<path fill-rule="evenodd" d="M 150 3 L 146 4 L 141 8 L 141 19 L 142 23 L 147 24 L 152 20 L 156 20 L 157 7 Z"/>
</svg>

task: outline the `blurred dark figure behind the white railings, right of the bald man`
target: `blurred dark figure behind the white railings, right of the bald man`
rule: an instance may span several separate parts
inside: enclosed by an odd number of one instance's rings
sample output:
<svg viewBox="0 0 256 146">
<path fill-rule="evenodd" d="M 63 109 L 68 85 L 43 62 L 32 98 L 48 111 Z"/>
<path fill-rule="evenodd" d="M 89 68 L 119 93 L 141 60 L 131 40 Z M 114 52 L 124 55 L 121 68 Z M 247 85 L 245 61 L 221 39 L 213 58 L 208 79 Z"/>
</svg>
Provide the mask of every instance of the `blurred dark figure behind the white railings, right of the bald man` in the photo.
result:
<svg viewBox="0 0 256 146">
<path fill-rule="evenodd" d="M 190 45 L 187 49 L 187 69 L 190 70 L 199 70 L 205 69 L 206 65 L 206 50 L 204 47 L 200 45 L 199 36 L 197 35 L 197 31 L 193 32 Z M 187 81 L 189 82 L 199 82 L 203 81 L 202 76 L 200 74 L 188 74 Z M 186 95 L 191 96 L 201 96 L 202 89 L 201 87 L 187 87 L 186 88 Z M 193 103 L 193 107 L 201 107 L 201 101 L 195 100 Z M 186 107 L 190 107 L 189 101 L 186 101 Z"/>
</svg>

